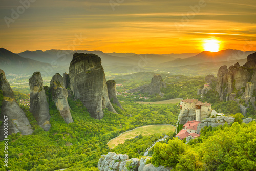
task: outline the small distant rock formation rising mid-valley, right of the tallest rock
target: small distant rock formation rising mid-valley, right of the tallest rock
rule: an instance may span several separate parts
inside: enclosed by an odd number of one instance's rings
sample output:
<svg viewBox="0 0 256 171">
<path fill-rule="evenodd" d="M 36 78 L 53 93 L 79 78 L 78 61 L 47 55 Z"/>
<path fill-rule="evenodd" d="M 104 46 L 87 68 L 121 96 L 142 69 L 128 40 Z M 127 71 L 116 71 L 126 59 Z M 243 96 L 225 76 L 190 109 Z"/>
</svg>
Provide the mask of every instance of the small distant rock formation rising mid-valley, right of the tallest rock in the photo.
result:
<svg viewBox="0 0 256 171">
<path fill-rule="evenodd" d="M 149 95 L 153 94 L 159 94 L 161 97 L 163 97 L 163 93 L 161 93 L 162 88 L 166 88 L 166 83 L 163 81 L 161 75 L 156 74 L 151 79 L 151 83 L 148 85 L 143 85 L 131 90 L 128 90 L 127 92 L 141 92 L 141 93 L 149 93 Z"/>
</svg>

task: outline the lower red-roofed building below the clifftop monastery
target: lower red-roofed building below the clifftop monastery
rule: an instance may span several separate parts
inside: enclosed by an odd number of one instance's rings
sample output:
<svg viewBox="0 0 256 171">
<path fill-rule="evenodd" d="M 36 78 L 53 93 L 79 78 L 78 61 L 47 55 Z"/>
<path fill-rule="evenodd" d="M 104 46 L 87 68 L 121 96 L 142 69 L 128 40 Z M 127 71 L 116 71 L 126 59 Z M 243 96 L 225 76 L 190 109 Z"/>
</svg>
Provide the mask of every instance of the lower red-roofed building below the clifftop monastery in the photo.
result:
<svg viewBox="0 0 256 171">
<path fill-rule="evenodd" d="M 184 139 L 188 136 L 192 136 L 192 138 L 197 138 L 200 136 L 200 134 L 197 133 L 197 126 L 201 123 L 200 121 L 188 121 L 186 124 L 183 125 L 183 129 L 180 130 L 180 132 L 175 136 L 179 136 L 180 139 Z"/>
</svg>

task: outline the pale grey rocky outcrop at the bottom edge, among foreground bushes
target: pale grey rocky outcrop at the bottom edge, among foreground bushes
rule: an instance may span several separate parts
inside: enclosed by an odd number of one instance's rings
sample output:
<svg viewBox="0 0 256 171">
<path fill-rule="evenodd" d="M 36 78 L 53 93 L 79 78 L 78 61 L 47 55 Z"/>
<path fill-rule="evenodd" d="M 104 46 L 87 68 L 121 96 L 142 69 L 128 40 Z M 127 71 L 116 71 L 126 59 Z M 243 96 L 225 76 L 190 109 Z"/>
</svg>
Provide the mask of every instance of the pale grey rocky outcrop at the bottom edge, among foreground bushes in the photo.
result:
<svg viewBox="0 0 256 171">
<path fill-rule="evenodd" d="M 141 159 L 129 159 L 126 154 L 116 154 L 113 152 L 107 155 L 102 155 L 98 162 L 98 169 L 100 171 L 167 171 L 171 168 L 164 168 L 163 166 L 154 167 L 152 164 L 146 164 L 151 157 L 144 157 Z"/>
</svg>

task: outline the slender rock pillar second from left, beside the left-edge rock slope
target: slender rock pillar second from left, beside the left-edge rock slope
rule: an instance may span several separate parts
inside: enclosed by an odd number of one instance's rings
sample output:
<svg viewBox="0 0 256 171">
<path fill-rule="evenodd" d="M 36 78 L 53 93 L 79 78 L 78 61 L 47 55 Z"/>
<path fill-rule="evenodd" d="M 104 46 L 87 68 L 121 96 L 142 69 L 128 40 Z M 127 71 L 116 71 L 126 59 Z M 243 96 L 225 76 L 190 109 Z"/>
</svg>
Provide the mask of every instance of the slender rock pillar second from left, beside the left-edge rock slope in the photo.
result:
<svg viewBox="0 0 256 171">
<path fill-rule="evenodd" d="M 30 112 L 34 115 L 38 125 L 45 131 L 49 131 L 50 114 L 49 104 L 40 72 L 35 72 L 29 79 L 30 86 Z"/>
</svg>

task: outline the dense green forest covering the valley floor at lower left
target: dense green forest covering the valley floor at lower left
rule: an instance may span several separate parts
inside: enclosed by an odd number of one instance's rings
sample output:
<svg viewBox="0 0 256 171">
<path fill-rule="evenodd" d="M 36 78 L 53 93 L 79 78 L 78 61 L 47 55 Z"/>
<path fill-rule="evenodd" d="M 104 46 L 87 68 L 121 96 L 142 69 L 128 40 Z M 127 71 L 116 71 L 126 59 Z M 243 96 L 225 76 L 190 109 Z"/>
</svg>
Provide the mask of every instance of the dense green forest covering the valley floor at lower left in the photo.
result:
<svg viewBox="0 0 256 171">
<path fill-rule="evenodd" d="M 46 93 L 50 103 L 50 131 L 42 130 L 28 107 L 22 106 L 34 132 L 28 136 L 21 136 L 20 133 L 9 136 L 7 170 L 95 170 L 100 156 L 111 151 L 106 145 L 111 138 L 138 126 L 174 124 L 179 111 L 175 104 L 144 105 L 127 101 L 122 103 L 125 111 L 114 105 L 119 114 L 104 110 L 103 119 L 96 120 L 79 100 L 68 99 L 74 123 L 66 124 L 50 92 Z M 3 145 L 0 144 L 1 149 Z M 0 170 L 6 170 L 3 151 L 0 157 Z"/>
</svg>

